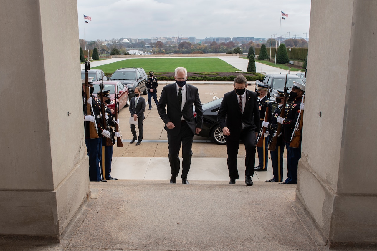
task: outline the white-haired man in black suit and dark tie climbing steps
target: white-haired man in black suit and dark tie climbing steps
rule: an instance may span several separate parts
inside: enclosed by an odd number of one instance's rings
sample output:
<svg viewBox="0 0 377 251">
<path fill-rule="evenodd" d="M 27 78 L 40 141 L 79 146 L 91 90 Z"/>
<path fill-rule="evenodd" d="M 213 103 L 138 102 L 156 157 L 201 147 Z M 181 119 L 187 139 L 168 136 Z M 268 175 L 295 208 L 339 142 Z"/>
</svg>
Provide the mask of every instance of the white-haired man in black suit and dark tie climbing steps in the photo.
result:
<svg viewBox="0 0 377 251">
<path fill-rule="evenodd" d="M 175 69 L 176 83 L 168 84 L 162 89 L 157 111 L 165 123 L 169 142 L 169 162 L 172 177 L 170 183 L 176 183 L 179 165 L 179 150 L 182 144 L 182 184 L 190 184 L 187 174 L 190 170 L 192 141 L 195 133 L 202 130 L 203 111 L 199 99 L 198 88 L 186 84 L 187 70 L 184 67 Z M 195 104 L 196 118 L 192 105 Z M 167 113 L 166 107 L 167 106 Z"/>
</svg>

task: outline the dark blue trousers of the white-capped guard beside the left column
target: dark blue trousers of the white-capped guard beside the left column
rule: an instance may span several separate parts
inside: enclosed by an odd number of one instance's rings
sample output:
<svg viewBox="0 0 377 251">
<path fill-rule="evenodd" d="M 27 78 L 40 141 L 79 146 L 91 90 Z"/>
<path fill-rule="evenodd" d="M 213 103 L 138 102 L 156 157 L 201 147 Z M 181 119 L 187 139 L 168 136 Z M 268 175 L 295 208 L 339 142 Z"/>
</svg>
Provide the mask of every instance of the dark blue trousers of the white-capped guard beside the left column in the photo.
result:
<svg viewBox="0 0 377 251">
<path fill-rule="evenodd" d="M 100 160 L 102 155 L 102 137 L 85 138 L 89 156 L 89 181 L 101 181 Z"/>
</svg>

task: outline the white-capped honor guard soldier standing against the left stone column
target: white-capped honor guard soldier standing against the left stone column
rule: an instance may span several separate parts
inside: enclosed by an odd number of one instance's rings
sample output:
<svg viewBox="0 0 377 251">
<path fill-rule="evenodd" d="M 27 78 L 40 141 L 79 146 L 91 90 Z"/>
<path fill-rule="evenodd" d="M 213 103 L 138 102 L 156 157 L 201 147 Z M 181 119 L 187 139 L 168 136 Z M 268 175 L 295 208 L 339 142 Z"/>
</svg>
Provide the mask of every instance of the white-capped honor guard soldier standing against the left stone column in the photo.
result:
<svg viewBox="0 0 377 251">
<path fill-rule="evenodd" d="M 93 87 L 93 78 L 88 78 L 90 86 L 90 98 L 87 103 L 91 106 L 91 112 L 87 111 L 85 104 L 85 79 L 81 80 L 83 86 L 83 107 L 84 114 L 84 127 L 85 127 L 85 145 L 88 150 L 89 156 L 89 181 L 101 181 L 101 170 L 100 170 L 100 160 L 102 155 L 102 136 L 110 137 L 110 133 L 105 130 L 101 122 L 101 107 L 100 100 L 96 96 L 93 96 L 94 87 Z M 89 135 L 89 122 L 95 122 L 97 125 L 98 138 L 90 138 Z"/>
</svg>

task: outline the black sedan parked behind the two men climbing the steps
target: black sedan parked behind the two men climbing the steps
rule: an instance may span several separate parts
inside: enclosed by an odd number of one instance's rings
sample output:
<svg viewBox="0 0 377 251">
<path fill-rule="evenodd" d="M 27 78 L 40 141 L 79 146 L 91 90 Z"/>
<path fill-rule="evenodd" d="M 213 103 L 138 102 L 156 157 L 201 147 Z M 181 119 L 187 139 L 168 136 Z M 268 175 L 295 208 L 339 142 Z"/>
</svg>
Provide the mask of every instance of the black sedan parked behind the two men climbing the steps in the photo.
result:
<svg viewBox="0 0 377 251">
<path fill-rule="evenodd" d="M 201 132 L 198 136 L 212 138 L 216 144 L 225 145 L 227 143 L 227 138 L 225 138 L 224 133 L 220 129 L 220 125 L 217 122 L 217 113 L 221 105 L 222 98 L 215 99 L 208 103 L 202 104 L 203 109 L 203 126 Z M 275 98 L 271 97 L 271 103 L 273 110 L 276 107 Z M 194 116 L 196 116 L 195 110 L 193 109 Z"/>
</svg>

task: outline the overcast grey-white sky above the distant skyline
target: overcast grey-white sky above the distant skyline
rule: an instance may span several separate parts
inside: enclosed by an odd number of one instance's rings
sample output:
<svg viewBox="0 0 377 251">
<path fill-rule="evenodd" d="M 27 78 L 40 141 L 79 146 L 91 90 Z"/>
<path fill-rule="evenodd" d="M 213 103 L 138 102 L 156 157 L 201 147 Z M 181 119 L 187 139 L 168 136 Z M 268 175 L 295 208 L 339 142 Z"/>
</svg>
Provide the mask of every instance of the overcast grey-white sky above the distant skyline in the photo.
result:
<svg viewBox="0 0 377 251">
<path fill-rule="evenodd" d="M 310 0 L 77 0 L 80 38 L 309 37 Z M 179 33 L 178 33 L 179 32 Z"/>
</svg>

